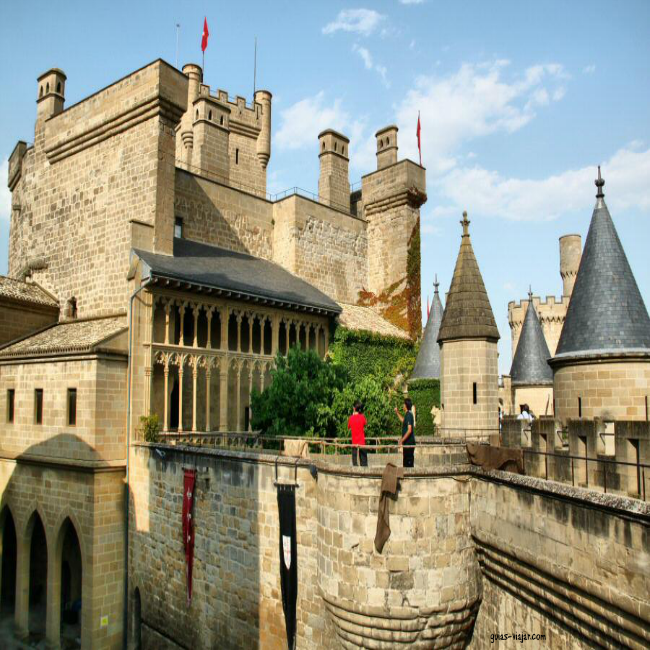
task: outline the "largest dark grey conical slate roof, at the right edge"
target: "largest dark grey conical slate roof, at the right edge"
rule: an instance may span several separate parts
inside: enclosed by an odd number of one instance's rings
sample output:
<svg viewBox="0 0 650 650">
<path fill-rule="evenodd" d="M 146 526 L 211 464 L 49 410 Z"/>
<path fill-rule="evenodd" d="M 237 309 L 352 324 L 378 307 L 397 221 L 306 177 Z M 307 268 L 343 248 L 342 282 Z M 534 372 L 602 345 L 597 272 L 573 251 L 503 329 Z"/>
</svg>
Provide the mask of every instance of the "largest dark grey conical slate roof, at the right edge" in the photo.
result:
<svg viewBox="0 0 650 650">
<path fill-rule="evenodd" d="M 650 353 L 650 318 L 625 251 L 598 194 L 555 358 L 612 352 Z"/>
</svg>

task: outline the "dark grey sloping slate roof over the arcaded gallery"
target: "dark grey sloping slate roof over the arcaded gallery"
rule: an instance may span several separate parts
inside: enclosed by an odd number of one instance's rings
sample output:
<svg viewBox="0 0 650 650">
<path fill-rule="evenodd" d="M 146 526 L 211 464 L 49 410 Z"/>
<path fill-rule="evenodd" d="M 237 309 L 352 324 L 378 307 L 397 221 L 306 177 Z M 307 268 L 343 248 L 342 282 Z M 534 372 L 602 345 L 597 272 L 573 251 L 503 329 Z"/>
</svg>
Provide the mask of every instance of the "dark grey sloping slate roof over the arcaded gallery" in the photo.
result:
<svg viewBox="0 0 650 650">
<path fill-rule="evenodd" d="M 144 263 L 143 278 L 175 281 L 188 289 L 213 290 L 238 300 L 262 300 L 277 307 L 339 314 L 341 307 L 279 264 L 225 248 L 174 239 L 174 254 L 134 250 Z"/>
</svg>

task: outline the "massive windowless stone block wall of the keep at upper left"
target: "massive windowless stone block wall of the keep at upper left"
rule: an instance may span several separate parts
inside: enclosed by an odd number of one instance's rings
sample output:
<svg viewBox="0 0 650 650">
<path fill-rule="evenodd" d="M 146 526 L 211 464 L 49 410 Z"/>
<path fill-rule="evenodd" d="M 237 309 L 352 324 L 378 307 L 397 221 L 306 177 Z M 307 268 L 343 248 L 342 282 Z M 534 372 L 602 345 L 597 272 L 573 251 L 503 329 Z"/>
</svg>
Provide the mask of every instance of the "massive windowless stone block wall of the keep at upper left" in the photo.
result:
<svg viewBox="0 0 650 650">
<path fill-rule="evenodd" d="M 173 121 L 187 79 L 156 61 L 36 123 L 13 190 L 9 275 L 32 277 L 80 317 L 125 308 L 130 220 L 171 252 Z M 19 206 L 19 210 L 16 207 Z"/>
</svg>

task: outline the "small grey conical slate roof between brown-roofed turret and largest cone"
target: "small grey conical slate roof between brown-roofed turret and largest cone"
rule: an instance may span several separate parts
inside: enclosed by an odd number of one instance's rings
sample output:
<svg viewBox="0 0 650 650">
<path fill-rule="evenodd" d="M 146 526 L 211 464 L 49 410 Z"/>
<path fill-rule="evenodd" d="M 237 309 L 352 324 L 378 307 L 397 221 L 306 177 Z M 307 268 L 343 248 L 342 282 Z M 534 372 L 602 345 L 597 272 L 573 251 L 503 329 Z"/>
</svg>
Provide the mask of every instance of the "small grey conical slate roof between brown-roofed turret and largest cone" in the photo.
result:
<svg viewBox="0 0 650 650">
<path fill-rule="evenodd" d="M 552 384 L 553 370 L 548 365 L 550 357 L 542 326 L 533 307 L 533 295 L 529 293 L 526 318 L 510 369 L 512 385 Z"/>
</svg>

